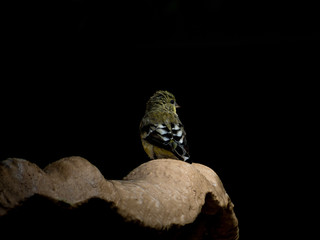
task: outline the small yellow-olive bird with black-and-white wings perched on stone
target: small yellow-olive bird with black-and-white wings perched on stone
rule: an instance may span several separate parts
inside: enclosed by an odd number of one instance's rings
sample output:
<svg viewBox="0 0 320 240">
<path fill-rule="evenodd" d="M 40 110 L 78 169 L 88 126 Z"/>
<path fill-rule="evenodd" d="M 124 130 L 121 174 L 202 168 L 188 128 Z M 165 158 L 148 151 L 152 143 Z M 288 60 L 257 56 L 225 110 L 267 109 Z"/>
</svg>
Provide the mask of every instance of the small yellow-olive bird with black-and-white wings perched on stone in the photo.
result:
<svg viewBox="0 0 320 240">
<path fill-rule="evenodd" d="M 186 132 L 176 112 L 179 107 L 174 95 L 163 90 L 156 91 L 147 101 L 139 130 L 150 159 L 190 161 Z"/>
</svg>

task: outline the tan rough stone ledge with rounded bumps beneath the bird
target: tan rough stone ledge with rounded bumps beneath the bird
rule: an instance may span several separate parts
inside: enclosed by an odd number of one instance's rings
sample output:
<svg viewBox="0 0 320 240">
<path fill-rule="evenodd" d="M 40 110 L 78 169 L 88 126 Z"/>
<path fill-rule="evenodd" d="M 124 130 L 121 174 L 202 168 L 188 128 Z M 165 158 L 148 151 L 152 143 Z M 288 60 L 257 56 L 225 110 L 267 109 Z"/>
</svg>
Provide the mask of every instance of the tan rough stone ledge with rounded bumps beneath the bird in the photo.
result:
<svg viewBox="0 0 320 240">
<path fill-rule="evenodd" d="M 0 220 L 35 196 L 50 199 L 58 209 L 58 203 L 69 206 L 67 209 L 79 209 L 92 199 L 99 199 L 134 226 L 157 234 L 167 234 L 172 229 L 182 232 L 165 235 L 168 239 L 238 238 L 233 204 L 219 177 L 197 163 L 158 159 L 140 165 L 123 180 L 106 180 L 81 157 L 63 158 L 43 170 L 22 159 L 2 161 Z"/>
</svg>

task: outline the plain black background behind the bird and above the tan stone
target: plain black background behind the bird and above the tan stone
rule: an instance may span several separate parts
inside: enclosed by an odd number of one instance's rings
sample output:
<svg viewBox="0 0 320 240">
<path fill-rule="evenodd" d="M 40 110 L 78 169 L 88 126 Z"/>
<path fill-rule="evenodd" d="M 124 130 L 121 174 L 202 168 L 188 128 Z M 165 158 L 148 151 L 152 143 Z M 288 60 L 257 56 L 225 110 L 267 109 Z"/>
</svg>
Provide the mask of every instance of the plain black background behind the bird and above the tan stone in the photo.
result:
<svg viewBox="0 0 320 240">
<path fill-rule="evenodd" d="M 148 161 L 139 122 L 164 89 L 182 106 L 192 159 L 217 172 L 235 204 L 241 239 L 309 229 L 301 179 L 315 147 L 315 6 L 15 1 L 4 9 L 1 160 L 43 168 L 78 155 L 121 179 Z"/>
</svg>

